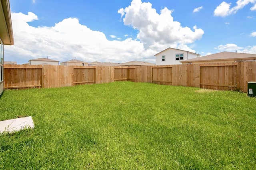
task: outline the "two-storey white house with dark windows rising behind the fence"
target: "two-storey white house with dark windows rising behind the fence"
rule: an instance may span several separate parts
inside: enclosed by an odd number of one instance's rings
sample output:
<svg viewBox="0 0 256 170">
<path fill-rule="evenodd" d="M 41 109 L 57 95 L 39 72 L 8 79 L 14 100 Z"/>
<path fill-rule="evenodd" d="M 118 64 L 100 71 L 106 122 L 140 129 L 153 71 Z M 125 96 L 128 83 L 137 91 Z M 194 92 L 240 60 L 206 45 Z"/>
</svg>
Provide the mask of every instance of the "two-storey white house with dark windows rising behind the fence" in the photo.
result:
<svg viewBox="0 0 256 170">
<path fill-rule="evenodd" d="M 156 55 L 156 65 L 182 64 L 180 61 L 200 57 L 200 54 L 184 51 L 180 49 L 168 48 Z"/>
</svg>

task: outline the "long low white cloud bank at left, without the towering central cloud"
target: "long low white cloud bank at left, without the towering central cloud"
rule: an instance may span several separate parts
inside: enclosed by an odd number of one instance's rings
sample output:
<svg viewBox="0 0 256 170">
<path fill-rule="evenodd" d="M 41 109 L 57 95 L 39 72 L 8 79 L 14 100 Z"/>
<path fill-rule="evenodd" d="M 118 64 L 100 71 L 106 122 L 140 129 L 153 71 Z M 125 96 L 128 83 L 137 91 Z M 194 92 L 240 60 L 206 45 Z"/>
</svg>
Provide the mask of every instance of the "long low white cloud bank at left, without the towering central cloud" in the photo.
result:
<svg viewBox="0 0 256 170">
<path fill-rule="evenodd" d="M 143 43 L 131 38 L 109 41 L 100 31 L 81 25 L 76 18 L 67 18 L 52 27 L 33 27 L 28 24 L 38 20 L 29 12 L 12 13 L 14 45 L 5 46 L 6 61 L 26 63 L 30 59 L 47 56 L 57 61 L 80 59 L 87 62 L 127 62 L 138 60 L 155 62 L 159 51 L 145 50 Z M 15 59 L 13 59 L 15 57 Z"/>
</svg>

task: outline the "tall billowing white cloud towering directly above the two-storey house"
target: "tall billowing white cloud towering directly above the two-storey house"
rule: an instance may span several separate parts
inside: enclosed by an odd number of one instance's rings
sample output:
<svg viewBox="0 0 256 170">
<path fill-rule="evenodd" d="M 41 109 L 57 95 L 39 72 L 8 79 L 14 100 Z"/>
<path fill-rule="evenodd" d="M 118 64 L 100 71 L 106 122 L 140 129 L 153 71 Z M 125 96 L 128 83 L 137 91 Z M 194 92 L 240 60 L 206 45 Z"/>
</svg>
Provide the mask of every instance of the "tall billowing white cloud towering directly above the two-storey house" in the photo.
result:
<svg viewBox="0 0 256 170">
<path fill-rule="evenodd" d="M 118 13 L 124 16 L 124 25 L 131 25 L 139 31 L 137 38 L 144 43 L 148 49 L 158 43 L 159 45 L 188 44 L 201 39 L 204 31 L 182 27 L 178 21 L 174 21 L 172 10 L 164 8 L 160 14 L 152 8 L 149 2 L 132 0 L 131 5 L 125 9 L 121 8 Z"/>
</svg>

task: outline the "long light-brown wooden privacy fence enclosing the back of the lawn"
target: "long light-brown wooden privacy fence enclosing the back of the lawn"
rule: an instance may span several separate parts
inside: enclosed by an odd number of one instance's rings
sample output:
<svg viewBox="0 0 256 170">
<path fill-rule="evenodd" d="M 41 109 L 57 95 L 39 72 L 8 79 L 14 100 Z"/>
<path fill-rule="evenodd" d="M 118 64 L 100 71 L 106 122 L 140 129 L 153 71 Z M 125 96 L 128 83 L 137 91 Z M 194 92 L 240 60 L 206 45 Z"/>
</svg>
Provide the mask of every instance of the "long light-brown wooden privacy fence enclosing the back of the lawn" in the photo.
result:
<svg viewBox="0 0 256 170">
<path fill-rule="evenodd" d="M 4 65 L 4 89 L 56 88 L 114 81 L 247 92 L 247 83 L 256 81 L 256 62 L 166 66 Z"/>
</svg>

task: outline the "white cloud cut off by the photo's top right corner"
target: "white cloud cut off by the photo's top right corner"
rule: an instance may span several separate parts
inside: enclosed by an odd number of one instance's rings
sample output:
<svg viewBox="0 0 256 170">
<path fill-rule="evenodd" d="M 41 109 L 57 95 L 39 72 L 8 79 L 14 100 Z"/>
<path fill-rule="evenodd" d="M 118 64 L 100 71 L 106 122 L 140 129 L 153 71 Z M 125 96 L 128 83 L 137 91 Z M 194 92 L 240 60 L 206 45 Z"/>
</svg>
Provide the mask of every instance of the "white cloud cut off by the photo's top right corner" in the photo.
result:
<svg viewBox="0 0 256 170">
<path fill-rule="evenodd" d="M 250 10 L 256 10 L 256 0 L 238 0 L 236 1 L 236 6 L 230 9 L 231 3 L 222 2 L 215 10 L 214 16 L 229 16 L 231 14 L 235 14 L 238 10 L 244 8 L 244 6 L 248 5 L 249 3 L 254 4 Z"/>
</svg>

